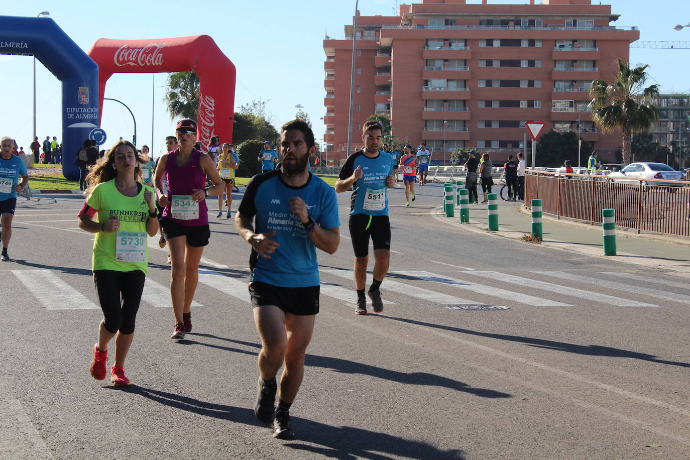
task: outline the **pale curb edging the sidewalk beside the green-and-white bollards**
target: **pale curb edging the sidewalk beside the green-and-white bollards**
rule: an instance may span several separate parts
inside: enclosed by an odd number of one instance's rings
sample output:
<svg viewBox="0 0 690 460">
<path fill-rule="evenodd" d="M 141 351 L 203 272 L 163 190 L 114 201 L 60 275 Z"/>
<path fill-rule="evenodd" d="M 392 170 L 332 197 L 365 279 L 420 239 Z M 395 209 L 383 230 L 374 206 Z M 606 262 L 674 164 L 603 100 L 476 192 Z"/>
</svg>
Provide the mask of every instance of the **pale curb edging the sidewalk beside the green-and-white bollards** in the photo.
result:
<svg viewBox="0 0 690 460">
<path fill-rule="evenodd" d="M 515 230 L 508 230 L 500 226 L 497 232 L 489 232 L 488 230 L 482 230 L 481 228 L 479 228 L 480 226 L 486 226 L 486 224 L 483 222 L 477 222 L 471 219 L 469 223 L 460 223 L 459 221 L 456 222 L 455 220 L 451 220 L 451 218 L 446 217 L 443 208 L 433 208 L 431 211 L 428 212 L 428 214 L 430 214 L 431 217 L 438 221 L 450 223 L 452 226 L 463 228 L 464 230 L 469 230 L 471 232 L 486 234 L 492 237 L 511 239 L 513 241 L 519 241 L 524 244 L 534 244 L 522 241 L 520 239 L 520 237 L 522 237 L 523 234 L 529 234 L 529 232 L 515 232 Z M 520 234 L 520 236 L 516 236 L 516 234 Z M 558 250 L 568 252 L 578 252 L 580 254 L 588 255 L 591 257 L 598 257 L 610 260 L 615 258 L 615 260 L 620 262 L 633 263 L 635 265 L 640 266 L 662 268 L 666 270 L 673 270 L 675 272 L 690 272 L 690 264 L 688 264 L 687 261 L 669 261 L 666 259 L 657 259 L 655 257 L 642 256 L 640 254 L 631 254 L 629 252 L 618 252 L 618 254 L 615 256 L 606 256 L 600 248 L 583 248 L 582 246 L 576 243 L 567 243 L 565 241 L 542 240 L 541 244 L 544 246 L 549 246 L 550 248 L 555 248 Z"/>
</svg>

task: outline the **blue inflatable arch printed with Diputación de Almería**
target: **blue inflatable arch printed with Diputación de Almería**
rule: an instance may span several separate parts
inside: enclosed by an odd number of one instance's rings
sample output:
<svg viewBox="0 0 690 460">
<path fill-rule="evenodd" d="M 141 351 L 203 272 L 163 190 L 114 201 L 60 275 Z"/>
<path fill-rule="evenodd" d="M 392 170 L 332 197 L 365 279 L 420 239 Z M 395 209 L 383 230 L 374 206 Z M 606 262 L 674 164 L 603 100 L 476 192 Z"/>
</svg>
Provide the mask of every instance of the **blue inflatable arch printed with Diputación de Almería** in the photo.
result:
<svg viewBox="0 0 690 460">
<path fill-rule="evenodd" d="M 98 127 L 97 64 L 46 17 L 0 16 L 0 54 L 34 56 L 62 82 L 62 174 L 79 179 L 75 157 Z"/>
</svg>

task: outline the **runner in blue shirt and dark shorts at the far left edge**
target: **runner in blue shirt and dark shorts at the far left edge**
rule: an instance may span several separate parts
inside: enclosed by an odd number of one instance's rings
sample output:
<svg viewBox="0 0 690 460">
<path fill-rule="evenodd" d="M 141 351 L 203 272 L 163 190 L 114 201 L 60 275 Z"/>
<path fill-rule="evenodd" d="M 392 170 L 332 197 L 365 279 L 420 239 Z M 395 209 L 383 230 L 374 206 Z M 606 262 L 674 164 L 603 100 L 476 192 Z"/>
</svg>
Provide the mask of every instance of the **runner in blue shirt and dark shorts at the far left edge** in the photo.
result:
<svg viewBox="0 0 690 460">
<path fill-rule="evenodd" d="M 26 165 L 12 154 L 14 139 L 5 136 L 0 140 L 0 223 L 2 223 L 2 252 L 0 260 L 9 262 L 10 255 L 7 252 L 12 238 L 12 218 L 14 208 L 17 207 L 17 193 L 26 186 L 29 174 Z M 17 180 L 21 176 L 21 184 Z"/>
</svg>

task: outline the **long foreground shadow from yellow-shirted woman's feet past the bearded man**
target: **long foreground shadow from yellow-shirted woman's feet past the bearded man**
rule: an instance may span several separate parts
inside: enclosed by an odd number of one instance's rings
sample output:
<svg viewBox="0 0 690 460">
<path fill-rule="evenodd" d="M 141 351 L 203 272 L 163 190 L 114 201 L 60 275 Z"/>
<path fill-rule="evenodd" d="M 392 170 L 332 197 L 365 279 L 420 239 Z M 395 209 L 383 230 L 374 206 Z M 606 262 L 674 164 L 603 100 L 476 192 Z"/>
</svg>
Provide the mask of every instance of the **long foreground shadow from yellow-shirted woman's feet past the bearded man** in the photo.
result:
<svg viewBox="0 0 690 460">
<path fill-rule="evenodd" d="M 115 388 L 132 394 L 139 394 L 141 397 L 165 406 L 186 410 L 205 417 L 244 423 L 249 426 L 261 426 L 254 415 L 254 411 L 248 408 L 209 403 L 136 385 L 108 386 L 105 388 Z M 291 419 L 299 440 L 284 443 L 283 446 L 294 450 L 313 452 L 335 459 L 386 459 L 389 456 L 407 459 L 464 459 L 460 450 L 441 450 L 428 443 L 404 439 L 391 434 L 349 426 L 330 426 L 298 417 L 291 417 Z M 270 436 L 269 433 L 267 430 L 267 437 Z"/>
</svg>

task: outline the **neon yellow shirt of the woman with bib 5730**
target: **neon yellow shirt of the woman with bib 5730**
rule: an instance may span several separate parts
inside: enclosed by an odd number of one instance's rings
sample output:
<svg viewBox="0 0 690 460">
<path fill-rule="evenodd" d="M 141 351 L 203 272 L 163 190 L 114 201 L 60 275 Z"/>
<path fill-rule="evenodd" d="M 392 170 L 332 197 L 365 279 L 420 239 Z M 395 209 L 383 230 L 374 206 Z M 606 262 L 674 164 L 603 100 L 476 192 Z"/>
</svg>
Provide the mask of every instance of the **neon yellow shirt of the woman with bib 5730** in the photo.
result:
<svg viewBox="0 0 690 460">
<path fill-rule="evenodd" d="M 86 204 L 98 212 L 98 223 L 107 222 L 110 217 L 120 219 L 119 232 L 146 232 L 148 203 L 144 192 L 153 189 L 142 184 L 136 197 L 125 197 L 115 187 L 115 179 L 99 183 L 89 194 Z M 115 260 L 117 234 L 119 232 L 98 232 L 93 243 L 93 270 L 117 270 L 130 272 L 141 270 L 148 272 L 148 245 L 144 238 L 144 262 L 123 262 Z"/>
</svg>

